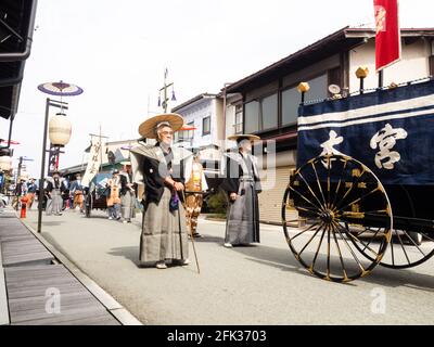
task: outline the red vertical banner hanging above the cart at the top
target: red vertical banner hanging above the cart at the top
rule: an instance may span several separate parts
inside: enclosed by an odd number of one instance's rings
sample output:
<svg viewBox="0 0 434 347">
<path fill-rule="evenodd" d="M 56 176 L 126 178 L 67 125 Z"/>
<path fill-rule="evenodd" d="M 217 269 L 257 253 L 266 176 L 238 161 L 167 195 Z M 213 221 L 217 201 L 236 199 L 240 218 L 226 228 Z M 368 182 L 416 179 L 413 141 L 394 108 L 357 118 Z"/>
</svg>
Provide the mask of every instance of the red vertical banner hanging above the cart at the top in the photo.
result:
<svg viewBox="0 0 434 347">
<path fill-rule="evenodd" d="M 398 0 L 373 0 L 375 13 L 376 72 L 400 59 Z"/>
</svg>

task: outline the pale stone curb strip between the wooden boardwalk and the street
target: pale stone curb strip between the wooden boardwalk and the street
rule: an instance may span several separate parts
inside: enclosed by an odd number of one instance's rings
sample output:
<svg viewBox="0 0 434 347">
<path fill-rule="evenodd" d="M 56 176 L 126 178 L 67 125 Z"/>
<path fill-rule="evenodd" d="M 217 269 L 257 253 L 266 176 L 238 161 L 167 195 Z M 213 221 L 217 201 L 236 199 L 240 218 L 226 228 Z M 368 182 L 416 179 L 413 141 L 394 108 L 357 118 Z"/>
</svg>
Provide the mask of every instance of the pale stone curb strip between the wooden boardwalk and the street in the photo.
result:
<svg viewBox="0 0 434 347">
<path fill-rule="evenodd" d="M 17 217 L 18 218 L 18 217 Z M 116 301 L 113 296 L 105 292 L 91 278 L 85 274 L 75 264 L 59 252 L 42 235 L 38 234 L 23 219 L 18 220 L 26 227 L 43 246 L 50 250 L 53 256 L 65 266 L 65 268 L 107 309 L 107 311 L 120 322 L 122 325 L 143 325 L 135 316 L 132 316 L 124 306 Z"/>
</svg>

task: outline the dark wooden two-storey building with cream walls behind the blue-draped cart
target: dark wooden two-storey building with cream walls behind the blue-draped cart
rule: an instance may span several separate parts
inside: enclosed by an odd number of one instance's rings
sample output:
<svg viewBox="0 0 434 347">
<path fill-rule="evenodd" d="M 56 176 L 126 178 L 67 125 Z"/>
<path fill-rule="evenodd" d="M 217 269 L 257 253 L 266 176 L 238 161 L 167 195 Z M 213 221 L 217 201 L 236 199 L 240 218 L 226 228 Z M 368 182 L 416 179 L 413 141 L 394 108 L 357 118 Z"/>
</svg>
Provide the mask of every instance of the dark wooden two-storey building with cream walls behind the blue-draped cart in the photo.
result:
<svg viewBox="0 0 434 347">
<path fill-rule="evenodd" d="M 401 29 L 401 60 L 384 70 L 384 86 L 434 75 L 433 38 L 434 28 Z M 273 175 L 269 181 L 275 181 L 259 194 L 261 221 L 281 223 L 283 193 L 296 166 L 298 83 L 310 86 L 306 101 L 332 97 L 331 85 L 339 86 L 343 95 L 357 92 L 359 66 L 370 72 L 365 89 L 376 88 L 375 31 L 346 27 L 222 90 L 225 136 L 255 133 L 276 144 L 276 171 L 261 172 L 265 179 Z"/>
</svg>

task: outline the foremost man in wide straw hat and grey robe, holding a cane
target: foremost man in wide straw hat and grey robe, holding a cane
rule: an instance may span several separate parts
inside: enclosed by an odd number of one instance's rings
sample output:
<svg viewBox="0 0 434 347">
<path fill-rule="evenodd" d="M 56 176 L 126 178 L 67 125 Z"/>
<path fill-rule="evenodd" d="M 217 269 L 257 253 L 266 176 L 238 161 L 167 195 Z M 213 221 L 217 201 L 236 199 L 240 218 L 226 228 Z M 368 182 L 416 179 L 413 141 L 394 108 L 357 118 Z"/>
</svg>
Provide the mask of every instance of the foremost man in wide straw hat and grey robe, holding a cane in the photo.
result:
<svg viewBox="0 0 434 347">
<path fill-rule="evenodd" d="M 131 149 L 133 178 L 144 183 L 143 223 L 140 240 L 140 262 L 165 269 L 166 260 L 188 265 L 188 237 L 182 204 L 184 185 L 191 172 L 192 154 L 173 147 L 174 132 L 183 125 L 177 114 L 154 116 L 139 127 L 142 138 L 156 139 L 156 144 Z"/>
</svg>

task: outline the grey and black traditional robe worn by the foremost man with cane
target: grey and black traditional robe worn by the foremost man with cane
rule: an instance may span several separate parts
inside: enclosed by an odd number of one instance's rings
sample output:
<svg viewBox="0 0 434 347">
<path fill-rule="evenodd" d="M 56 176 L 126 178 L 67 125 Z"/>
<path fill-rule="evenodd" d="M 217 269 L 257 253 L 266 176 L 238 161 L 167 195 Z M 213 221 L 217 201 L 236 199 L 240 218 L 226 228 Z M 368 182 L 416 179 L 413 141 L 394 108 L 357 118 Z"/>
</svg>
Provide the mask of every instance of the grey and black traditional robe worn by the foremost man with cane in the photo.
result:
<svg viewBox="0 0 434 347">
<path fill-rule="evenodd" d="M 139 255 L 143 264 L 182 260 L 189 256 L 184 209 L 179 202 L 178 209 L 170 211 L 173 191 L 166 187 L 164 178 L 171 175 L 175 180 L 184 182 L 188 170 L 191 171 L 192 154 L 184 149 L 171 150 L 171 174 L 158 145 L 143 144 L 131 150 L 133 181 L 145 184 Z M 182 198 L 181 192 L 178 195 Z"/>
</svg>

